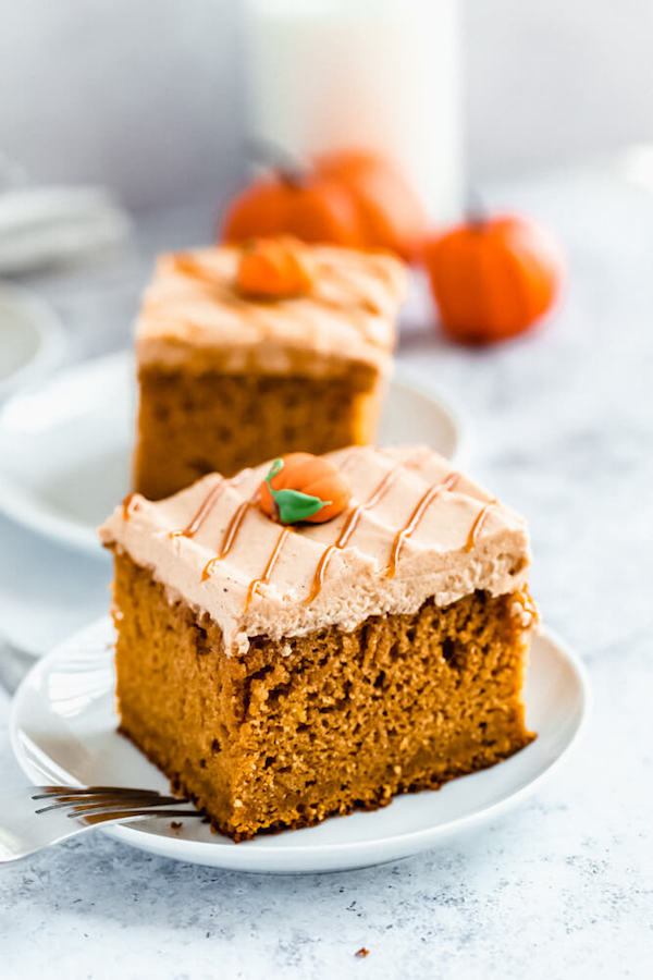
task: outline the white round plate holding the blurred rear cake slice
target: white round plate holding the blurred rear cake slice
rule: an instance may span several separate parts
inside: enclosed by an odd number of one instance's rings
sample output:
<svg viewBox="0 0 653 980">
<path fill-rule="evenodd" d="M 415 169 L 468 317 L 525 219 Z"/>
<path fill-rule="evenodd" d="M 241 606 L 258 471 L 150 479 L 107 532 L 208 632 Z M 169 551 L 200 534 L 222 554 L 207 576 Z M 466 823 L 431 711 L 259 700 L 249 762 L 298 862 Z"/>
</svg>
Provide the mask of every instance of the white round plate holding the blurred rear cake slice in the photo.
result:
<svg viewBox="0 0 653 980">
<path fill-rule="evenodd" d="M 96 527 L 130 489 L 135 371 L 127 354 L 78 365 L 0 411 L 0 507 L 14 520 L 99 554 Z M 379 442 L 424 442 L 460 462 L 463 426 L 397 376 Z"/>
</svg>

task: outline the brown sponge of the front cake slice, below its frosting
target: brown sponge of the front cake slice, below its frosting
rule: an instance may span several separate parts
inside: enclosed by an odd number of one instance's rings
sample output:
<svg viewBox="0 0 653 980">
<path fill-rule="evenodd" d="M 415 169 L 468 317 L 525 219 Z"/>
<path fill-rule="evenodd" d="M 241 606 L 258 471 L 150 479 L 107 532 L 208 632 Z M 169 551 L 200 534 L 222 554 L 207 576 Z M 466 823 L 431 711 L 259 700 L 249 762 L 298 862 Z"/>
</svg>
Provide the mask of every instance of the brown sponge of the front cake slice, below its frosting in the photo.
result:
<svg viewBox="0 0 653 980">
<path fill-rule="evenodd" d="M 254 637 L 244 657 L 124 555 L 115 602 L 121 731 L 235 841 L 438 788 L 533 737 L 523 593 Z"/>
</svg>

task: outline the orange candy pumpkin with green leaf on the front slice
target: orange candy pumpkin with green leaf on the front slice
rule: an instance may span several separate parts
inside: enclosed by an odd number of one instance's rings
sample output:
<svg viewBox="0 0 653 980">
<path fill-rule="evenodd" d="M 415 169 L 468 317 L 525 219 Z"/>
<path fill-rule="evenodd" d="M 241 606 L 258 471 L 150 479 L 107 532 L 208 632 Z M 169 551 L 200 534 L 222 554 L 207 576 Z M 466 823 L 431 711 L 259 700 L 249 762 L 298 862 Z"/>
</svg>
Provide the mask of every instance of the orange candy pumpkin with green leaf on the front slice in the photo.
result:
<svg viewBox="0 0 653 980">
<path fill-rule="evenodd" d="M 349 503 L 352 490 L 337 466 L 311 453 L 288 453 L 274 460 L 259 488 L 258 502 L 281 524 L 322 524 Z"/>
</svg>

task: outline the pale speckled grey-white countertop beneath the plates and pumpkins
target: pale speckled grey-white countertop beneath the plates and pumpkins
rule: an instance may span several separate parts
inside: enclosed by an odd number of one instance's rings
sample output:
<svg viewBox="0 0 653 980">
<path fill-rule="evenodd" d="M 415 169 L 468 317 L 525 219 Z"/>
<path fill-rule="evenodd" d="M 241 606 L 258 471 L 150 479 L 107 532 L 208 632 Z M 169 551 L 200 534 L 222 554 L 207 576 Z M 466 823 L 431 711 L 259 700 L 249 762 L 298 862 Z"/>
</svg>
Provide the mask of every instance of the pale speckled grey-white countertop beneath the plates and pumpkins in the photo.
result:
<svg viewBox="0 0 653 980">
<path fill-rule="evenodd" d="M 464 405 L 471 469 L 530 522 L 533 592 L 590 673 L 582 745 L 520 810 L 385 867 L 245 875 L 95 834 L 4 868 L 3 980 L 651 976 L 653 195 L 594 170 L 513 183 L 491 199 L 557 229 L 570 257 L 563 309 L 488 352 L 409 322 L 401 358 Z M 124 343 L 151 252 L 206 238 L 200 213 L 144 216 L 138 257 L 36 283 L 78 356 Z M 14 633 L 15 610 L 45 610 L 53 638 L 103 610 L 107 564 L 1 517 L 0 547 L 0 618 Z M 0 694 L 3 787 L 24 782 L 8 707 Z M 361 946 L 366 959 L 354 955 Z"/>
</svg>

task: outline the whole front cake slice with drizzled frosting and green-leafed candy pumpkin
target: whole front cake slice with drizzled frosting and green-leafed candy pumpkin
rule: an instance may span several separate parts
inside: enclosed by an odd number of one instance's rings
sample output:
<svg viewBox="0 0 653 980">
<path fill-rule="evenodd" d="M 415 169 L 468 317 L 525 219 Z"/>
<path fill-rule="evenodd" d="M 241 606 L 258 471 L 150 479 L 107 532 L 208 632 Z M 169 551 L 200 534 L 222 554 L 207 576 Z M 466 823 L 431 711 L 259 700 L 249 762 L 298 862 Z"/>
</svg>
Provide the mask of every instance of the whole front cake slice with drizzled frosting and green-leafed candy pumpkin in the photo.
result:
<svg viewBox="0 0 653 980">
<path fill-rule="evenodd" d="M 236 841 L 528 745 L 525 523 L 424 448 L 293 453 L 100 529 L 121 731 Z"/>
</svg>

